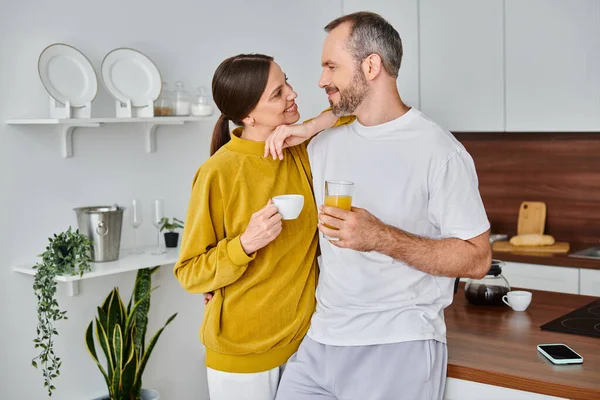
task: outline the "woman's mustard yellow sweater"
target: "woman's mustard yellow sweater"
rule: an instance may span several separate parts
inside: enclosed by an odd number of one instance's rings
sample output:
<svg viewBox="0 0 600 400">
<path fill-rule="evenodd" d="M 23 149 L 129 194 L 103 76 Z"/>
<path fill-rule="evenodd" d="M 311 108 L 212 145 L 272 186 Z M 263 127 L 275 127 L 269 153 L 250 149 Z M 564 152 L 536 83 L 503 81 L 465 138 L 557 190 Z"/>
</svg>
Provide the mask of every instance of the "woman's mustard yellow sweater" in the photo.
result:
<svg viewBox="0 0 600 400">
<path fill-rule="evenodd" d="M 229 143 L 197 171 L 175 276 L 192 293 L 214 292 L 200 337 L 206 365 L 260 372 L 284 364 L 308 331 L 317 285 L 317 208 L 306 146 L 284 159 L 263 157 L 264 142 Z M 304 195 L 295 220 L 246 255 L 240 244 L 250 216 L 269 199 Z"/>
</svg>

